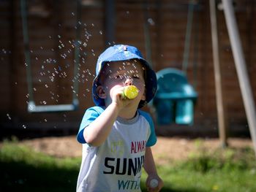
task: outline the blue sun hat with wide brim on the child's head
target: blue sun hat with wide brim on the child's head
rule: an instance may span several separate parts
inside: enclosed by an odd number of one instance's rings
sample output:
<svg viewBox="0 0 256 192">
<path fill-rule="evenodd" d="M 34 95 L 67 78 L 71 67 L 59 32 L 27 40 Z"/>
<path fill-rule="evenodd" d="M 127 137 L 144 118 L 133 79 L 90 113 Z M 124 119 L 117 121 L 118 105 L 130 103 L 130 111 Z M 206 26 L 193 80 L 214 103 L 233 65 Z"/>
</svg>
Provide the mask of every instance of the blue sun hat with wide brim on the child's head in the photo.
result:
<svg viewBox="0 0 256 192">
<path fill-rule="evenodd" d="M 96 66 L 96 77 L 94 78 L 94 82 L 92 85 L 92 93 L 94 104 L 97 106 L 104 106 L 104 99 L 99 98 L 97 95 L 97 85 L 98 78 L 101 74 L 103 66 L 106 63 L 114 62 L 114 61 L 127 61 L 131 59 L 138 59 L 141 64 L 146 68 L 146 101 L 140 101 L 138 108 L 146 105 L 151 99 L 153 99 L 156 91 L 157 91 L 157 76 L 156 73 L 151 69 L 151 66 L 148 64 L 146 59 L 143 58 L 143 55 L 140 53 L 136 47 L 130 45 L 114 45 L 112 47 L 108 47 L 101 55 L 99 55 L 97 66 Z"/>
</svg>

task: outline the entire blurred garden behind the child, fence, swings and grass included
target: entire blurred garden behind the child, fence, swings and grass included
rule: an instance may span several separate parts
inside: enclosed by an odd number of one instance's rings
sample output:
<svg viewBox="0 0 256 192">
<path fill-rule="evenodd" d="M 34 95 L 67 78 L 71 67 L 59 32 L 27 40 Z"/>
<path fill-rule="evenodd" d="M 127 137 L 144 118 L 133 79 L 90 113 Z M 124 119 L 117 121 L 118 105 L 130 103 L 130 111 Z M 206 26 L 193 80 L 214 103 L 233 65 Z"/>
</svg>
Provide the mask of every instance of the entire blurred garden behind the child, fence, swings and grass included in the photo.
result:
<svg viewBox="0 0 256 192">
<path fill-rule="evenodd" d="M 75 191 L 75 136 L 94 105 L 97 58 L 116 44 L 138 47 L 157 72 L 143 110 L 162 191 L 256 191 L 255 9 L 255 0 L 1 0 L 0 191 Z M 145 182 L 143 171 L 142 191 Z"/>
</svg>

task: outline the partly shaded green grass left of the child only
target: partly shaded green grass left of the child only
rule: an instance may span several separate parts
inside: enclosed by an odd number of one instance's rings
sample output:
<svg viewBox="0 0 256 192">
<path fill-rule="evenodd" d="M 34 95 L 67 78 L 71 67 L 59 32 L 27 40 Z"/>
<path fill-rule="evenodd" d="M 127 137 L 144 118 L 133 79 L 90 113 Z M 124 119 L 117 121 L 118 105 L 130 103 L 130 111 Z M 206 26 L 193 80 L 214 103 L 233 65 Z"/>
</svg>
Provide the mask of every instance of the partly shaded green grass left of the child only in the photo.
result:
<svg viewBox="0 0 256 192">
<path fill-rule="evenodd" d="M 53 158 L 15 142 L 0 149 L 0 191 L 75 191 L 80 158 Z"/>
</svg>

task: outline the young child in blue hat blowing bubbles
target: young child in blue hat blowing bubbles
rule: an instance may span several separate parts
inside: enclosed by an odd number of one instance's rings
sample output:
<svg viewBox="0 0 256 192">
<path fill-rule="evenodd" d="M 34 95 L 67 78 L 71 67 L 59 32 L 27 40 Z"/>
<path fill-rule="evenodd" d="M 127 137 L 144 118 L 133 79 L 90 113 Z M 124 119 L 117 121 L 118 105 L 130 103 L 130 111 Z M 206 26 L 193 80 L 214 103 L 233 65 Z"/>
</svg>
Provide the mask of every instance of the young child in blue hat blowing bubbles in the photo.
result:
<svg viewBox="0 0 256 192">
<path fill-rule="evenodd" d="M 127 85 L 138 88 L 135 99 L 124 96 Z M 140 191 L 142 167 L 148 191 L 160 191 L 153 121 L 138 110 L 157 91 L 155 72 L 136 47 L 114 45 L 99 55 L 92 91 L 96 106 L 86 110 L 77 137 L 83 144 L 77 191 Z"/>
</svg>

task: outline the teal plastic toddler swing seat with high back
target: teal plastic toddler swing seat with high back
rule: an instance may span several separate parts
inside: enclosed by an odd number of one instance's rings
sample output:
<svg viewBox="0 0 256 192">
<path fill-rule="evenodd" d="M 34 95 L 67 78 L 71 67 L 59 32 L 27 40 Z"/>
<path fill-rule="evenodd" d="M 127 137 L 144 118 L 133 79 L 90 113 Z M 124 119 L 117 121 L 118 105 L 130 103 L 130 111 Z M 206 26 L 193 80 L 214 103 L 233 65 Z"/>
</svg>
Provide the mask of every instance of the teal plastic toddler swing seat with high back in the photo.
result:
<svg viewBox="0 0 256 192">
<path fill-rule="evenodd" d="M 177 69 L 162 69 L 157 72 L 157 85 L 153 101 L 157 122 L 192 125 L 197 93 L 189 85 L 186 75 Z"/>
</svg>

